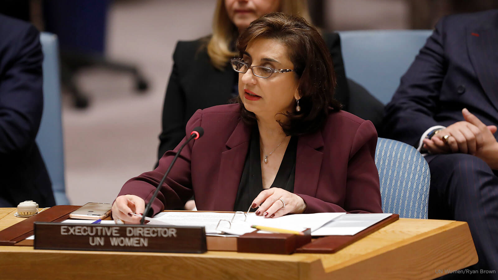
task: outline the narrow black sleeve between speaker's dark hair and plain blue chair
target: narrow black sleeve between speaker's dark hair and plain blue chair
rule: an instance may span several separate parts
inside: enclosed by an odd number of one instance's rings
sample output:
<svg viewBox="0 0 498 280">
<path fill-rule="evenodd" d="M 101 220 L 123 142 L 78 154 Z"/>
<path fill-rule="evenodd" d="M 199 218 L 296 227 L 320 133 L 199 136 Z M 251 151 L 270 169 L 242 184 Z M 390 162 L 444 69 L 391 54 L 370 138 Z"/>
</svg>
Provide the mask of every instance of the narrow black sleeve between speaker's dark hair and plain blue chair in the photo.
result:
<svg viewBox="0 0 498 280">
<path fill-rule="evenodd" d="M 326 33 L 324 35 L 324 40 L 329 48 L 330 55 L 332 56 L 332 63 L 334 64 L 334 72 L 336 74 L 337 86 L 334 98 L 341 102 L 343 105 L 342 110 L 349 112 L 350 93 L 342 58 L 341 37 L 335 32 Z"/>
</svg>

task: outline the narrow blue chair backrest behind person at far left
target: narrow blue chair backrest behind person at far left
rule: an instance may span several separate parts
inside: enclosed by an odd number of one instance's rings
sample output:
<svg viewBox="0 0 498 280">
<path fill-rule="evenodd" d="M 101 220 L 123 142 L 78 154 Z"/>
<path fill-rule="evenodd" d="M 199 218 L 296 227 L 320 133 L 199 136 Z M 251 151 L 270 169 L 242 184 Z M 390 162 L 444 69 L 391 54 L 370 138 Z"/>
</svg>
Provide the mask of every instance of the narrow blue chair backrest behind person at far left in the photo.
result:
<svg viewBox="0 0 498 280">
<path fill-rule="evenodd" d="M 64 143 L 62 139 L 59 49 L 57 36 L 42 32 L 43 115 L 36 143 L 47 166 L 56 204 L 69 204 L 64 180 Z"/>
</svg>

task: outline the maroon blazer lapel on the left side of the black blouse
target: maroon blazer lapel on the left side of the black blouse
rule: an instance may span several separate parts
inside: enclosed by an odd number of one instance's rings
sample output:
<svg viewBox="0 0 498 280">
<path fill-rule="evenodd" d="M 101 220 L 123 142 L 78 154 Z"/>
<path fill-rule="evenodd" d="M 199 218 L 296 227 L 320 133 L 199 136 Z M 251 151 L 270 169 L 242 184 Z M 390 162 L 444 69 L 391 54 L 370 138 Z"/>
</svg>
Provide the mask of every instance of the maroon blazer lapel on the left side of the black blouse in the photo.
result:
<svg viewBox="0 0 498 280">
<path fill-rule="evenodd" d="M 239 120 L 237 127 L 226 142 L 228 150 L 222 152 L 220 173 L 214 209 L 233 211 L 242 170 L 249 149 L 250 127 Z"/>
</svg>

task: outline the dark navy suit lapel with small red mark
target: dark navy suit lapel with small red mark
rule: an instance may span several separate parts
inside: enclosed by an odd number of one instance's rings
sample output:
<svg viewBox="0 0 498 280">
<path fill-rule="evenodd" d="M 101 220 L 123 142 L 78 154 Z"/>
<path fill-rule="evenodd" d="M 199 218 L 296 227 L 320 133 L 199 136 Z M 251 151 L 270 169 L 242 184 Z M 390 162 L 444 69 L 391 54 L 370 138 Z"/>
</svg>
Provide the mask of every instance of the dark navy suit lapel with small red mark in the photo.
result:
<svg viewBox="0 0 498 280">
<path fill-rule="evenodd" d="M 493 21 L 498 21 L 493 18 Z M 498 29 L 493 24 L 467 28 L 467 46 L 484 92 L 498 110 Z"/>
</svg>

